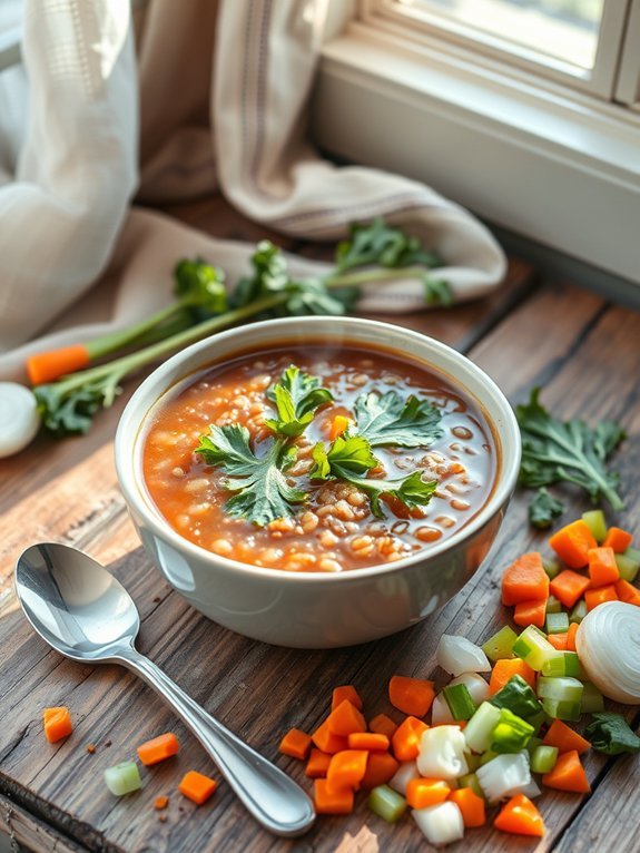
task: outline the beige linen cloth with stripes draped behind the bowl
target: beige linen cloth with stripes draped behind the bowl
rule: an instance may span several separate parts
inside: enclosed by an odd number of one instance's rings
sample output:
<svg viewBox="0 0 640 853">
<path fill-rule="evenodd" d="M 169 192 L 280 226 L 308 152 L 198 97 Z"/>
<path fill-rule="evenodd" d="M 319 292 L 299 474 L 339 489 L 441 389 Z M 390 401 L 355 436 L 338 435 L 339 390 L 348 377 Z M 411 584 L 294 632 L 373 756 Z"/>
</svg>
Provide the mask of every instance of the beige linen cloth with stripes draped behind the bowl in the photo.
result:
<svg viewBox="0 0 640 853">
<path fill-rule="evenodd" d="M 24 0 L 23 65 L 0 75 L 0 379 L 23 378 L 30 352 L 166 304 L 180 257 L 201 255 L 230 283 L 248 269 L 252 246 L 132 199 L 220 190 L 252 219 L 312 241 L 384 216 L 441 254 L 456 301 L 501 282 L 500 247 L 459 205 L 311 146 L 325 13 L 326 0 L 149 0 L 135 39 L 130 0 Z M 361 306 L 414 312 L 422 286 L 376 286 Z"/>
</svg>

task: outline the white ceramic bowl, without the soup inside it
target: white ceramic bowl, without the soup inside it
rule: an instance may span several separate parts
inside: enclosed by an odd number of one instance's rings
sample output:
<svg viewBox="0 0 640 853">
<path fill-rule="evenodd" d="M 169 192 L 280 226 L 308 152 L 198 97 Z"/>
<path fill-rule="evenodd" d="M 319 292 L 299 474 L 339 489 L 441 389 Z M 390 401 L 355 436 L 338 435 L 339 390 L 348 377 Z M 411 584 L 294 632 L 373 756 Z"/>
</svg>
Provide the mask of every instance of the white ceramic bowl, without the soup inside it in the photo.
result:
<svg viewBox="0 0 640 853">
<path fill-rule="evenodd" d="M 217 363 L 283 342 L 323 339 L 384 346 L 444 374 L 480 404 L 498 444 L 498 472 L 484 507 L 450 539 L 396 562 L 344 573 L 288 572 L 247 566 L 183 539 L 152 502 L 142 478 L 149 414 L 177 385 Z M 116 467 L 142 545 L 168 582 L 216 622 L 247 637 L 297 648 L 377 639 L 435 612 L 471 578 L 493 542 L 520 467 L 520 432 L 495 383 L 451 347 L 400 326 L 349 317 L 270 320 L 200 341 L 142 382 L 120 419 Z"/>
</svg>

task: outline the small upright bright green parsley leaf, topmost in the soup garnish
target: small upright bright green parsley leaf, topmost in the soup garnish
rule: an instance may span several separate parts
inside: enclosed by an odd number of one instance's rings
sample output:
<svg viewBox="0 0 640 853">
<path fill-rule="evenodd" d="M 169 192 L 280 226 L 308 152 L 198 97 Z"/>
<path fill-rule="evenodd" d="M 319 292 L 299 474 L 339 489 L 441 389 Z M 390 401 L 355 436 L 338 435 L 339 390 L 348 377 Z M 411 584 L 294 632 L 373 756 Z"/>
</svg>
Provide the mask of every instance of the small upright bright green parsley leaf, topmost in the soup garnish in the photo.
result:
<svg viewBox="0 0 640 853">
<path fill-rule="evenodd" d="M 287 438 L 302 435 L 319 406 L 333 400 L 332 392 L 322 388 L 322 380 L 303 373 L 295 364 L 286 369 L 267 396 L 276 404 L 278 420 L 268 419 L 265 423 L 273 432 Z"/>
</svg>

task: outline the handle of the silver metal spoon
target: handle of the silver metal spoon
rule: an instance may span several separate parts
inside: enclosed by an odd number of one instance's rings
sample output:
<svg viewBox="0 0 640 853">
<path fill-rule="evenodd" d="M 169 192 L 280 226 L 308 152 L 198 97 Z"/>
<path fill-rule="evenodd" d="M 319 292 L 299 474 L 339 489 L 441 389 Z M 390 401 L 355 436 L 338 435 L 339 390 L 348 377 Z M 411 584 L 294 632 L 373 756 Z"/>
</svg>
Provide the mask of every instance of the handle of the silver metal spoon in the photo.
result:
<svg viewBox="0 0 640 853">
<path fill-rule="evenodd" d="M 311 827 L 315 820 L 312 802 L 286 773 L 207 714 L 152 660 L 134 648 L 119 650 L 118 660 L 171 706 L 263 826 L 283 836 L 302 835 Z"/>
</svg>

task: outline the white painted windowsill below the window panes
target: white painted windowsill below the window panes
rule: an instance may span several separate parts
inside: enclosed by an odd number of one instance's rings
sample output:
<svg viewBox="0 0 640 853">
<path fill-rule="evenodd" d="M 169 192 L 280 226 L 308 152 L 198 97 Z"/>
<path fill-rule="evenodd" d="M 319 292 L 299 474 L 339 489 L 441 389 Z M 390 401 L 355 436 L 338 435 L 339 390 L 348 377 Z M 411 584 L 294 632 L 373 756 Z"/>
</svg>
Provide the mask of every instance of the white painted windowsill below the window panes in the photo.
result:
<svg viewBox="0 0 640 853">
<path fill-rule="evenodd" d="M 323 49 L 313 118 L 328 151 L 640 283 L 640 116 L 352 23 Z"/>
</svg>

